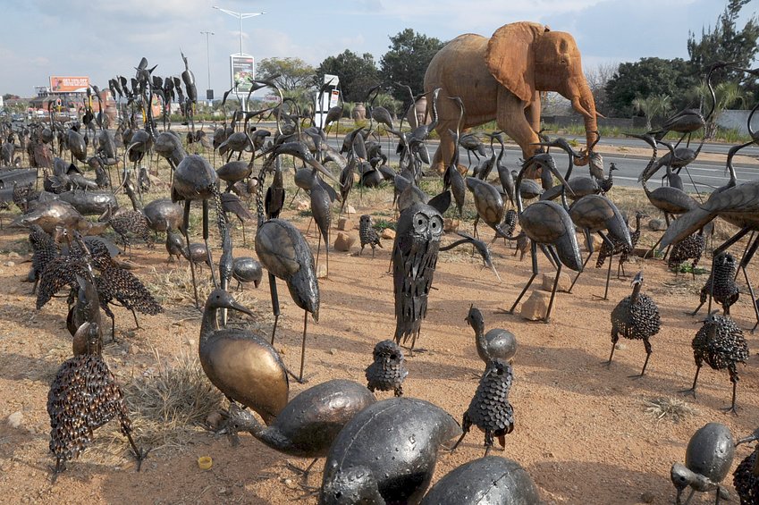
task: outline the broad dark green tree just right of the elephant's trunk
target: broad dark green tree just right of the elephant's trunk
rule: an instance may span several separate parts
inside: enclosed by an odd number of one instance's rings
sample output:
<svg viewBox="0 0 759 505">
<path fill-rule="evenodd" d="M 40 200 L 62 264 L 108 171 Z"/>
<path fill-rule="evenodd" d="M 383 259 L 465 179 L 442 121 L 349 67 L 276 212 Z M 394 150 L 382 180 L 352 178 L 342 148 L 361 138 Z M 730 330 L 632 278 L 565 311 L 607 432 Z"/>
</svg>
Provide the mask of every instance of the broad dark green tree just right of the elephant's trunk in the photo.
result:
<svg viewBox="0 0 759 505">
<path fill-rule="evenodd" d="M 641 58 L 636 63 L 621 63 L 606 83 L 607 104 L 612 114 L 629 117 L 634 114 L 633 100 L 638 97 L 668 95 L 672 108 L 688 105 L 687 91 L 698 83 L 690 63 L 675 58 Z"/>
</svg>

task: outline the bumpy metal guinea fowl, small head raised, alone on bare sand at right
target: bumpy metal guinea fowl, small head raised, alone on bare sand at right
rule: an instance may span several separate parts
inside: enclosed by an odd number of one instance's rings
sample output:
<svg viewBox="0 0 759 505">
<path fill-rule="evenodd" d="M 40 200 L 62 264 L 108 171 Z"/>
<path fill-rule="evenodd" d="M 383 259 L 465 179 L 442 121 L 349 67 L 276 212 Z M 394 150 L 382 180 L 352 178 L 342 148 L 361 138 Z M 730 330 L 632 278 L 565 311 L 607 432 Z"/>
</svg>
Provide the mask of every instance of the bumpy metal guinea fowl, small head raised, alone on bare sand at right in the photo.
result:
<svg viewBox="0 0 759 505">
<path fill-rule="evenodd" d="M 642 340 L 645 346 L 645 362 L 643 370 L 640 372 L 642 377 L 645 374 L 645 367 L 648 366 L 648 358 L 651 358 L 651 342 L 648 341 L 661 327 L 659 317 L 659 307 L 656 306 L 651 297 L 640 292 L 643 285 L 643 272 L 638 272 L 633 279 L 633 292 L 617 304 L 617 307 L 611 311 L 611 354 L 609 355 L 609 365 L 611 358 L 614 358 L 614 349 L 617 341 L 620 340 L 620 334 L 626 339 Z"/>
</svg>

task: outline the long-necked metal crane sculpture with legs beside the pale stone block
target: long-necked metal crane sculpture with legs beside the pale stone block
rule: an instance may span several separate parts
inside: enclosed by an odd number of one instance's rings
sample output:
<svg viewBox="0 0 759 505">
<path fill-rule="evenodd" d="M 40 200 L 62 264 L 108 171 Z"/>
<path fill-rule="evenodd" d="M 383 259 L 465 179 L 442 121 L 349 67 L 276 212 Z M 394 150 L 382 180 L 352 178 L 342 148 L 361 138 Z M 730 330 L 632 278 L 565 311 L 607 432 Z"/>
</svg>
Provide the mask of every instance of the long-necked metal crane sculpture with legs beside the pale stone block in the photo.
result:
<svg viewBox="0 0 759 505">
<path fill-rule="evenodd" d="M 553 164 L 551 155 L 539 154 L 533 157 L 544 163 L 544 167 L 556 175 L 562 184 L 567 183 L 567 181 L 561 176 L 561 173 L 556 169 L 556 165 Z M 551 308 L 553 306 L 553 298 L 556 295 L 556 287 L 559 284 L 561 265 L 565 265 L 576 272 L 582 272 L 583 267 L 578 240 L 575 235 L 575 225 L 572 223 L 572 220 L 564 207 L 551 200 L 537 201 L 527 207 L 522 203 L 522 178 L 524 177 L 527 168 L 532 166 L 533 161 L 535 160 L 526 160 L 525 163 L 522 164 L 522 169 L 519 171 L 516 181 L 519 226 L 531 242 L 530 254 L 532 257 L 532 275 L 525 287 L 519 293 L 517 299 L 514 300 L 514 304 L 511 306 L 509 312 L 514 312 L 514 309 L 519 304 L 519 300 L 522 299 L 532 282 L 535 281 L 538 274 L 537 246 L 540 245 L 545 254 L 549 255 L 550 259 L 552 259 L 552 263 L 557 265 L 556 277 L 553 280 L 553 289 L 551 291 L 551 299 L 548 302 L 548 309 L 544 316 L 544 322 L 548 323 L 551 320 Z"/>
</svg>

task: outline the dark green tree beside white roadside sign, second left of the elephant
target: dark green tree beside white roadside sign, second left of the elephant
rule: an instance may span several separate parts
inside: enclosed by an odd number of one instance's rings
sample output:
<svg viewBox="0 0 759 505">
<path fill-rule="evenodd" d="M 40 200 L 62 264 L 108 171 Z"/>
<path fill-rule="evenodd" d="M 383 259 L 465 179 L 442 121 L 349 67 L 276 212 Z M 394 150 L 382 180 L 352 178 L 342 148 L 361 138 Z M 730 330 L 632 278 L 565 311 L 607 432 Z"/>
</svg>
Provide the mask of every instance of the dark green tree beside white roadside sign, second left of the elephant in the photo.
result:
<svg viewBox="0 0 759 505">
<path fill-rule="evenodd" d="M 325 73 L 340 78 L 342 99 L 346 102 L 363 102 L 369 88 L 380 80 L 375 57 L 370 53 L 359 56 L 350 49 L 319 64 L 316 69 L 319 82 L 324 82 Z"/>
</svg>

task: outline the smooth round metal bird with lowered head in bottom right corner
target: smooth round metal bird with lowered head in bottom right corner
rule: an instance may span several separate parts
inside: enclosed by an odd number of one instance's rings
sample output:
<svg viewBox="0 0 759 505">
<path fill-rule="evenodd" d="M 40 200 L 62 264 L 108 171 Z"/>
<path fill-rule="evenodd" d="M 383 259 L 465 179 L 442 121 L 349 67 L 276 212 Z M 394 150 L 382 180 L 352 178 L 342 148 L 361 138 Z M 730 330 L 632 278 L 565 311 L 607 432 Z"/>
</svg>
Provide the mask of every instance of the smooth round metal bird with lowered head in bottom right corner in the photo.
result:
<svg viewBox="0 0 759 505">
<path fill-rule="evenodd" d="M 729 500 L 727 489 L 720 484 L 728 475 L 735 455 L 735 442 L 729 427 L 721 423 L 702 426 L 687 442 L 685 465 L 675 463 L 670 469 L 670 479 L 678 494 L 675 503 L 680 505 L 682 492 L 690 487 L 686 504 L 693 493 L 715 491 L 715 505 Z"/>
</svg>

